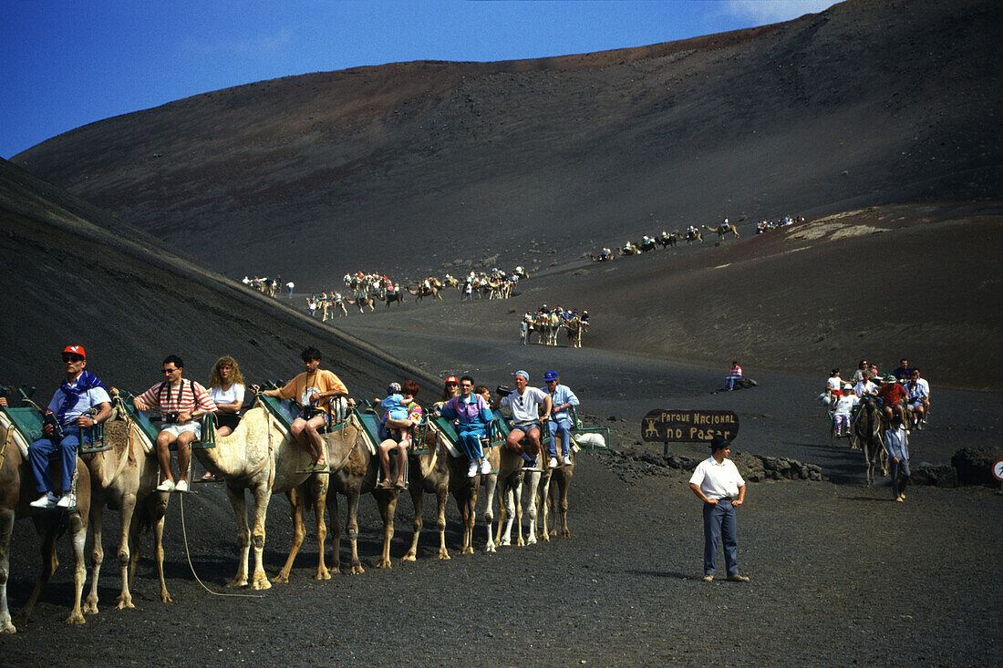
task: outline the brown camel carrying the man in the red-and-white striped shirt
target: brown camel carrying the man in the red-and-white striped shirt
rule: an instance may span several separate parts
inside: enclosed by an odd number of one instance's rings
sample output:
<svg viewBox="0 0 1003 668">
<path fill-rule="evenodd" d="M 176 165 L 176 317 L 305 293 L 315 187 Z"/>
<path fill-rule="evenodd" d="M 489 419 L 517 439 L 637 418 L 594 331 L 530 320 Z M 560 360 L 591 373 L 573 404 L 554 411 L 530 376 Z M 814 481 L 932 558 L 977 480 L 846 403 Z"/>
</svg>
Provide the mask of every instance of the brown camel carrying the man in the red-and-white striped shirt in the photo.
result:
<svg viewBox="0 0 1003 668">
<path fill-rule="evenodd" d="M 143 527 L 153 529 L 156 570 L 160 579 L 160 601 L 171 603 L 163 579 L 163 516 L 168 510 L 166 492 L 156 491 L 159 466 L 153 456 L 153 444 L 129 418 L 121 398 L 115 396 L 111 417 L 104 423 L 104 442 L 110 450 L 81 454 L 90 474 L 90 526 L 94 532 L 91 553 L 90 593 L 83 612 L 97 614 L 97 581 L 104 561 L 101 540 L 101 513 L 107 506 L 118 511 L 118 567 L 121 593 L 117 608 L 134 608 L 129 588 L 139 563 L 139 539 Z M 132 552 L 129 552 L 129 543 Z"/>
</svg>

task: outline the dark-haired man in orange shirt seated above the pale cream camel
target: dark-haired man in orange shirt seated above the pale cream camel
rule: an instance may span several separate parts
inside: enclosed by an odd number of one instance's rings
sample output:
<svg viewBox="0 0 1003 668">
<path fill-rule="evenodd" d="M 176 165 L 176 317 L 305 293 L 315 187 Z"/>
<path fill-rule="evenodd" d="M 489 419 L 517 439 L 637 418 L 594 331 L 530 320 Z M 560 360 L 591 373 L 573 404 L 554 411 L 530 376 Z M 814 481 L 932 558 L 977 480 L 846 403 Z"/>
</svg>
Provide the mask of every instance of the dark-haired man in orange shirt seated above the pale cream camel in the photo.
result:
<svg viewBox="0 0 1003 668">
<path fill-rule="evenodd" d="M 285 387 L 265 390 L 263 394 L 297 402 L 300 413 L 289 429 L 297 442 L 310 453 L 311 463 L 307 470 L 321 473 L 328 470 L 328 466 L 324 441 L 318 429 L 330 423 L 331 400 L 348 397 L 348 388 L 333 372 L 320 368 L 321 354 L 313 346 L 304 350 L 300 357 L 303 359 L 303 373 L 290 380 Z M 353 405 L 355 402 L 349 398 L 348 403 Z"/>
</svg>

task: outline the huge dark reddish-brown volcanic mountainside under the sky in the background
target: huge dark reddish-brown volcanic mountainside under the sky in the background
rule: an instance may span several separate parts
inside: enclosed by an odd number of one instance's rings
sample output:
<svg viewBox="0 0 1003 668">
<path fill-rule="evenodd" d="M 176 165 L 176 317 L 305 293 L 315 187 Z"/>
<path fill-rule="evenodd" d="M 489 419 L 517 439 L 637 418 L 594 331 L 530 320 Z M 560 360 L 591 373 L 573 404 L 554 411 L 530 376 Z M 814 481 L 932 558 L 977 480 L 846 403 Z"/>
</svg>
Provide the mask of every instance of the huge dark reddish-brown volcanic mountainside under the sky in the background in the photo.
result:
<svg viewBox="0 0 1003 668">
<path fill-rule="evenodd" d="M 216 270 L 307 288 L 522 262 L 534 239 L 578 255 L 721 216 L 999 199 L 1001 18 L 855 0 L 642 49 L 288 77 L 15 159 Z"/>
</svg>

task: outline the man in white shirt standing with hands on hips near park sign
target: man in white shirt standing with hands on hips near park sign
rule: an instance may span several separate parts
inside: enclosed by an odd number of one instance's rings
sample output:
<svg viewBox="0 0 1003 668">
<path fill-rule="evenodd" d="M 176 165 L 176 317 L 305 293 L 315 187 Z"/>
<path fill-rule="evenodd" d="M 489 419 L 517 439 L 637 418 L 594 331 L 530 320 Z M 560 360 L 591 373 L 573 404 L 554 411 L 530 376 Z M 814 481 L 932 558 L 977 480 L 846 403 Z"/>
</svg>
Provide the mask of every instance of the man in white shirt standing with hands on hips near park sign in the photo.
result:
<svg viewBox="0 0 1003 668">
<path fill-rule="evenodd" d="M 717 540 L 724 543 L 724 565 L 727 579 L 748 582 L 738 575 L 738 543 L 736 540 L 735 509 L 745 500 L 745 480 L 738 473 L 731 455 L 731 443 L 720 435 L 710 441 L 710 457 L 697 464 L 690 477 L 690 489 L 703 502 L 703 579 L 714 580 L 714 560 Z"/>
</svg>

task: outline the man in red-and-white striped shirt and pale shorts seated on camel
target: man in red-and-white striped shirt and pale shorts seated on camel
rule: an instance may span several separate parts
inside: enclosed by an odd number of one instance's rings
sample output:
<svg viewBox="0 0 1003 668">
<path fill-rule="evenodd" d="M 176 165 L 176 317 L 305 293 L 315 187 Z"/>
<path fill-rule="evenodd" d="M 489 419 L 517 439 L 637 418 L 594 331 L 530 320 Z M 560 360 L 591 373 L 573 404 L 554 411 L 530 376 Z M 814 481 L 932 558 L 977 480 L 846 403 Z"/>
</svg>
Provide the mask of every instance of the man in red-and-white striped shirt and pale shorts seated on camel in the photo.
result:
<svg viewBox="0 0 1003 668">
<path fill-rule="evenodd" d="M 178 355 L 163 359 L 161 383 L 153 385 L 132 399 L 136 410 L 160 409 L 160 433 L 156 436 L 156 460 L 160 464 L 163 480 L 157 485 L 160 491 L 188 491 L 189 466 L 192 463 L 194 441 L 202 438 L 200 417 L 216 410 L 216 403 L 206 388 L 194 380 L 182 378 L 185 362 Z M 178 483 L 171 473 L 171 444 L 178 443 Z"/>
</svg>

